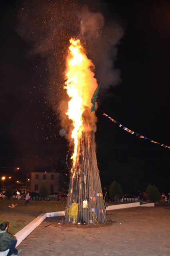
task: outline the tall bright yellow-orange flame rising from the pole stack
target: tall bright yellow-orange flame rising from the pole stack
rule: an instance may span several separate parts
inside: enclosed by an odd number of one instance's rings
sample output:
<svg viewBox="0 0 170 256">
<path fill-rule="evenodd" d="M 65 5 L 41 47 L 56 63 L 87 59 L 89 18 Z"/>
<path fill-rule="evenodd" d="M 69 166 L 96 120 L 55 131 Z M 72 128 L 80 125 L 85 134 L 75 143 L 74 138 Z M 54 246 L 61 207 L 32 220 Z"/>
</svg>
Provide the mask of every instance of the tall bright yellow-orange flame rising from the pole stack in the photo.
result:
<svg viewBox="0 0 170 256">
<path fill-rule="evenodd" d="M 71 137 L 74 141 L 72 155 L 73 167 L 79 153 L 79 140 L 85 127 L 83 126 L 83 112 L 85 108 L 91 108 L 91 98 L 97 88 L 97 80 L 94 78 L 94 65 L 85 54 L 80 40 L 70 39 L 69 53 L 67 56 L 67 69 L 65 72 L 65 89 L 71 98 L 68 102 L 67 116 L 73 122 Z"/>
</svg>

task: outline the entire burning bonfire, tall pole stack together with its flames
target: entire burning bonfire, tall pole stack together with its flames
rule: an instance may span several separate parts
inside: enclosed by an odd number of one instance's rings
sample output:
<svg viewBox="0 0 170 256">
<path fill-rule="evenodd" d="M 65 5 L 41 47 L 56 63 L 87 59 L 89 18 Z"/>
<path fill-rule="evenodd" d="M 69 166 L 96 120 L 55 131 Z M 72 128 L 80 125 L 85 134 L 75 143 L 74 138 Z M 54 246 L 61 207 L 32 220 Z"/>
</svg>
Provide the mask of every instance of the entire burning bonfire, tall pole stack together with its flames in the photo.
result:
<svg viewBox="0 0 170 256">
<path fill-rule="evenodd" d="M 106 210 L 95 146 L 95 100 L 99 90 L 93 62 L 87 58 L 79 39 L 70 40 L 65 71 L 69 95 L 66 115 L 73 123 L 73 155 L 65 222 L 103 224 Z"/>
</svg>

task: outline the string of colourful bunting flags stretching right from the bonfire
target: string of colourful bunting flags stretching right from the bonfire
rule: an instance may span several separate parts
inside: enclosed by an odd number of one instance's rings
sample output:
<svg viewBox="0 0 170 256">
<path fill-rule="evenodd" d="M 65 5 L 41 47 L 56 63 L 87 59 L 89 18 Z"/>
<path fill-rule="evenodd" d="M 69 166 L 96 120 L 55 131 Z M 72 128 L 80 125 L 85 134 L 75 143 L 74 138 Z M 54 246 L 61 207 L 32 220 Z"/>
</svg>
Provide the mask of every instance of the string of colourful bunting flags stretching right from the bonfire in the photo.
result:
<svg viewBox="0 0 170 256">
<path fill-rule="evenodd" d="M 99 109 L 99 108 L 98 108 Z M 99 109 L 100 110 L 100 109 Z M 102 110 L 100 110 L 101 112 L 103 112 Z M 144 140 L 149 140 L 150 142 L 156 144 L 156 145 L 160 145 L 161 147 L 164 147 L 164 148 L 168 148 L 170 149 L 170 146 L 167 146 L 167 145 L 164 145 L 162 143 L 159 143 L 159 142 L 156 142 L 154 140 L 151 140 L 149 138 L 146 138 L 145 136 L 141 135 L 141 134 L 138 134 L 137 132 L 134 132 L 130 129 L 128 129 L 127 127 L 123 126 L 122 124 L 120 124 L 119 122 L 117 122 L 115 119 L 111 118 L 110 116 L 108 116 L 106 113 L 103 112 L 103 116 L 106 116 L 107 118 L 109 118 L 112 122 L 114 122 L 115 124 L 118 124 L 120 128 L 122 128 L 123 130 L 125 130 L 126 132 L 129 132 L 130 134 L 134 134 L 136 135 L 137 137 L 141 138 L 141 139 L 144 139 Z"/>
</svg>

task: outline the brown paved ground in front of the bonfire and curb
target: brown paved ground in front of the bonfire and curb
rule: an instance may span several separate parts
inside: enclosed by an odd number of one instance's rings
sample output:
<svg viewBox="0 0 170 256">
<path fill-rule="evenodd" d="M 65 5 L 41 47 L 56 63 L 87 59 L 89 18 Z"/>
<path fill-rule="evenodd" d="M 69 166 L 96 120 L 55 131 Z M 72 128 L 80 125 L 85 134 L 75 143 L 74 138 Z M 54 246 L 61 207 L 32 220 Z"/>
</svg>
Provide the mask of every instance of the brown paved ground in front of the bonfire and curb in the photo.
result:
<svg viewBox="0 0 170 256">
<path fill-rule="evenodd" d="M 170 256 L 170 209 L 110 210 L 107 219 L 102 231 L 97 225 L 75 226 L 47 218 L 18 246 L 20 255 Z"/>
</svg>

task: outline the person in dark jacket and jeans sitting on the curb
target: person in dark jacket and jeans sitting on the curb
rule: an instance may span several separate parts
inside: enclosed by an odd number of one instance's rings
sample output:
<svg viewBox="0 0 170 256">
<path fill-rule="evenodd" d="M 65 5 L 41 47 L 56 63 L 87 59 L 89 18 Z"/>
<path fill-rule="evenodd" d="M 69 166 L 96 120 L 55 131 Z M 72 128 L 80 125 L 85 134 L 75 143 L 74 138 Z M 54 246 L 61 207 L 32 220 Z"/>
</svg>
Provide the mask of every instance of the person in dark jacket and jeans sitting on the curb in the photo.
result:
<svg viewBox="0 0 170 256">
<path fill-rule="evenodd" d="M 17 250 L 15 248 L 17 243 L 16 237 L 8 233 L 8 228 L 8 222 L 3 222 L 0 224 L 0 252 L 10 249 L 7 256 L 18 255 L 22 249 Z"/>
</svg>

